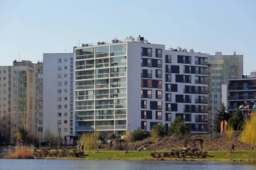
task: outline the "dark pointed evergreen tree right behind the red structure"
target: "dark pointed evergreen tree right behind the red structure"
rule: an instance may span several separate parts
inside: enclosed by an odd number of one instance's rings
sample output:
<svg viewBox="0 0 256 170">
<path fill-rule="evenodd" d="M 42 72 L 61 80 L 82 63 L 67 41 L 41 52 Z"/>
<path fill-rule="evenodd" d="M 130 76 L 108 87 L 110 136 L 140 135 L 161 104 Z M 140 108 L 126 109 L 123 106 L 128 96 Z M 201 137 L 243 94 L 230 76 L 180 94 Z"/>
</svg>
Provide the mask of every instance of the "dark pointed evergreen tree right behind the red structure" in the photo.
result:
<svg viewBox="0 0 256 170">
<path fill-rule="evenodd" d="M 226 105 L 222 103 L 220 110 L 217 110 L 217 114 L 214 118 L 214 131 L 220 133 L 220 124 L 223 120 L 228 122 L 230 114 L 226 112 Z"/>
</svg>

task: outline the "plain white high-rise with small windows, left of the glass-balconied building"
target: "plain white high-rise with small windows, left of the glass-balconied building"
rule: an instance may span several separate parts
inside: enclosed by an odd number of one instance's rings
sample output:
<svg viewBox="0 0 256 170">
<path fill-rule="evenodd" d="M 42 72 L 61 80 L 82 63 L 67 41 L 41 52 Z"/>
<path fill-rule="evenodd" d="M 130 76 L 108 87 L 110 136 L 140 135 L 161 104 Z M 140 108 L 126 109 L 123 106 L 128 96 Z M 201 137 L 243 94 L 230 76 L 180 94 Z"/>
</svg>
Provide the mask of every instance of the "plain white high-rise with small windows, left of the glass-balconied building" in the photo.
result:
<svg viewBox="0 0 256 170">
<path fill-rule="evenodd" d="M 73 53 L 43 54 L 43 134 L 73 135 Z"/>
</svg>

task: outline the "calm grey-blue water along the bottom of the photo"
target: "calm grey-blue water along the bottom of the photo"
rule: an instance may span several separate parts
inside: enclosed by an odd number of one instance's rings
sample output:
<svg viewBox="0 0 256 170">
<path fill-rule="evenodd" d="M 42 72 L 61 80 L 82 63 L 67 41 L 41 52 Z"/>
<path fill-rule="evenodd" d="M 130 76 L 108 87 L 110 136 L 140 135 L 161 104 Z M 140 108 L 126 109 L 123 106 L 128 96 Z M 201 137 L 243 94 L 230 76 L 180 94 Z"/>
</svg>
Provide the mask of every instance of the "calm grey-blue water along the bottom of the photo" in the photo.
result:
<svg viewBox="0 0 256 170">
<path fill-rule="evenodd" d="M 0 159 L 1 170 L 39 169 L 111 169 L 111 170 L 167 170 L 167 169 L 256 169 L 256 163 L 180 162 L 180 161 L 80 161 L 80 160 L 21 160 Z"/>
</svg>

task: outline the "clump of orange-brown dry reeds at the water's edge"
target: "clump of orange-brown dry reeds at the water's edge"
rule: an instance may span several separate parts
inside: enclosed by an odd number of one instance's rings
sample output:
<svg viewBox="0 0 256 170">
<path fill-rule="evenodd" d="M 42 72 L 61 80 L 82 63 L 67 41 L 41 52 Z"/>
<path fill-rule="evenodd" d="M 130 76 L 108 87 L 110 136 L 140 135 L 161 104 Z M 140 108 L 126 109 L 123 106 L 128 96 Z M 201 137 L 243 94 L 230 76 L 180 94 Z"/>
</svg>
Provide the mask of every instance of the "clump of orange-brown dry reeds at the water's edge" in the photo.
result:
<svg viewBox="0 0 256 170">
<path fill-rule="evenodd" d="M 5 159 L 34 159 L 34 148 L 29 146 L 17 146 L 15 151 L 3 157 Z"/>
</svg>

